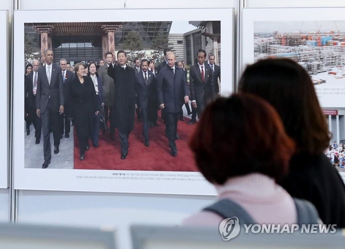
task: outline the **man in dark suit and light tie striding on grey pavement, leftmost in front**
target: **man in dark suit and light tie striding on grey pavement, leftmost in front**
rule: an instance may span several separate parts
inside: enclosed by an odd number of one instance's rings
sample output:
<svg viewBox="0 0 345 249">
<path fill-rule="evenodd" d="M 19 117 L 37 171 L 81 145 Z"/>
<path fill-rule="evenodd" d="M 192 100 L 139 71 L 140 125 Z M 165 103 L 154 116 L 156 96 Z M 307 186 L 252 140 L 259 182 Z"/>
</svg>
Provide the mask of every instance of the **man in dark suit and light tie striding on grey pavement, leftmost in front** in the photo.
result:
<svg viewBox="0 0 345 249">
<path fill-rule="evenodd" d="M 50 164 L 51 148 L 50 133 L 52 128 L 54 137 L 54 154 L 59 153 L 60 145 L 60 116 L 63 113 L 63 81 L 61 68 L 53 65 L 53 50 L 47 49 L 44 53 L 46 66 L 38 71 L 36 92 L 36 114 L 42 118 L 43 152 L 45 169 Z"/>
</svg>

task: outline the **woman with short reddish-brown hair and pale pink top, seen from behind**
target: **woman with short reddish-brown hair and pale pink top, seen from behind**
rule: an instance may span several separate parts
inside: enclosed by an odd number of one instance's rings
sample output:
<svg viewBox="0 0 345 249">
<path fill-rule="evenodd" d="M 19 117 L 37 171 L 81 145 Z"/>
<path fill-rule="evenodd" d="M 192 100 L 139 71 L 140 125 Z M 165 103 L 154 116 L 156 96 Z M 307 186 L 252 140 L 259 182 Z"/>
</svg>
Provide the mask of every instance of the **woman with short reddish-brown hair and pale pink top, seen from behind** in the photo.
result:
<svg viewBox="0 0 345 249">
<path fill-rule="evenodd" d="M 184 225 L 218 227 L 233 216 L 243 224 L 318 224 L 312 204 L 293 199 L 276 183 L 289 170 L 294 142 L 266 101 L 253 95 L 215 100 L 206 106 L 190 147 L 220 200 Z M 308 210 L 305 220 L 301 206 Z"/>
</svg>

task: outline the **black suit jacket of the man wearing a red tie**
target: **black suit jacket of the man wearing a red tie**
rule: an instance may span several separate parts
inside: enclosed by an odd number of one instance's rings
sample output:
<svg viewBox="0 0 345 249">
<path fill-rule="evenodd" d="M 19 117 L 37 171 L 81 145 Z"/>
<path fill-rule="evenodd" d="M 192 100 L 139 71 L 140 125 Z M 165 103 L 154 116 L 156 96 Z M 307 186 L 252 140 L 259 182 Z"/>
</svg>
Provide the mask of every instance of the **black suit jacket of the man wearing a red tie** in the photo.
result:
<svg viewBox="0 0 345 249">
<path fill-rule="evenodd" d="M 203 64 L 205 79 L 201 79 L 199 64 L 194 64 L 189 71 L 190 79 L 190 96 L 191 100 L 195 100 L 196 104 L 206 104 L 215 97 L 215 84 L 213 82 L 213 74 L 209 65 Z"/>
</svg>

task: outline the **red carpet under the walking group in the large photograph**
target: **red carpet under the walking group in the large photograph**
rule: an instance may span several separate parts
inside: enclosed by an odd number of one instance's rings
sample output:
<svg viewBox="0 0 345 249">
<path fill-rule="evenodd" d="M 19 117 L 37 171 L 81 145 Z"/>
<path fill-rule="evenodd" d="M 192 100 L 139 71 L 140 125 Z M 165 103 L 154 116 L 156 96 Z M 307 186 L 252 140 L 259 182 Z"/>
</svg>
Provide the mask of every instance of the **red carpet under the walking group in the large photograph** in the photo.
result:
<svg viewBox="0 0 345 249">
<path fill-rule="evenodd" d="M 158 115 L 160 117 L 160 114 Z M 198 171 L 188 141 L 195 129 L 195 124 L 186 124 L 189 120 L 178 123 L 179 140 L 177 157 L 170 155 L 168 140 L 165 137 L 165 125 L 159 118 L 159 127 L 149 128 L 150 146 L 144 146 L 143 122 L 134 123 L 134 131 L 129 135 L 129 152 L 125 160 L 121 160 L 121 148 L 118 130 L 116 141 L 109 138 L 109 132 L 99 135 L 99 147 L 94 148 L 91 140 L 90 149 L 85 152 L 84 161 L 79 160 L 79 145 L 76 132 L 74 134 L 74 168 L 97 170 L 147 170 L 147 171 Z"/>
</svg>

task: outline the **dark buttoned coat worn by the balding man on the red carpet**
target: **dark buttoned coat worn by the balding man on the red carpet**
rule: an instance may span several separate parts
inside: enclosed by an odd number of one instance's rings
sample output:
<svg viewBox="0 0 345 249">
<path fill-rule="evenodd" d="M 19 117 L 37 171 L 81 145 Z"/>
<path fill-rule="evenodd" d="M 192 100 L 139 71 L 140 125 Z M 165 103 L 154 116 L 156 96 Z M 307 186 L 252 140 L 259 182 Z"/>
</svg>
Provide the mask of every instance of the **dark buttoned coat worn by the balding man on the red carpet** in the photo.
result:
<svg viewBox="0 0 345 249">
<path fill-rule="evenodd" d="M 169 66 L 161 69 L 157 79 L 158 104 L 164 104 L 164 112 L 180 112 L 184 96 L 189 95 L 184 71 L 175 66 L 174 73 Z"/>
</svg>

